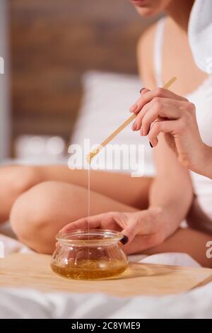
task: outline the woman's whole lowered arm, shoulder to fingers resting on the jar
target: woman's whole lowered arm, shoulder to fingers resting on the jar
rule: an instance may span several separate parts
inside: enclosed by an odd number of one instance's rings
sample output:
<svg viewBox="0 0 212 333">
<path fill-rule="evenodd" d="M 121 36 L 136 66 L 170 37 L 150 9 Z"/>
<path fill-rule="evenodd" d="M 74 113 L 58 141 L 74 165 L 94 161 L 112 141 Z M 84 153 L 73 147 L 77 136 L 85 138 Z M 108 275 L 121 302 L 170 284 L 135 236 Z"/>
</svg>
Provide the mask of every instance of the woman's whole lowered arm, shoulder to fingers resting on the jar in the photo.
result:
<svg viewBox="0 0 212 333">
<path fill-rule="evenodd" d="M 152 32 L 153 28 L 145 33 L 138 48 L 142 79 L 151 89 L 154 88 L 153 67 L 151 66 Z M 88 225 L 90 228 L 119 230 L 124 234 L 123 244 L 128 243 L 126 245 L 127 253 L 136 253 L 155 247 L 172 235 L 186 217 L 192 203 L 192 183 L 189 171 L 179 164 L 163 134 L 160 135 L 159 144 L 154 150 L 158 174 L 151 186 L 148 210 L 133 213 L 110 212 L 91 216 L 89 219 L 82 218 L 66 225 L 63 232 L 76 228 L 84 229 Z"/>
</svg>

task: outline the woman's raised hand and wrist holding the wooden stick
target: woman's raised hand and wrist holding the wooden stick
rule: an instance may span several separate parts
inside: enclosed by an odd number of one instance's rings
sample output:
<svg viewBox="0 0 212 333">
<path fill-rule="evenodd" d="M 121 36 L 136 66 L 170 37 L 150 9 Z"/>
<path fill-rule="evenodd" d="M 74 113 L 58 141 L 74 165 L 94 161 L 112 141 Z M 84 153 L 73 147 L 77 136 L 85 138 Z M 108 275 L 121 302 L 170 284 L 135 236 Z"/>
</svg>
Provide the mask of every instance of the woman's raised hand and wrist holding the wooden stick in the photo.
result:
<svg viewBox="0 0 212 333">
<path fill-rule="evenodd" d="M 166 89 L 144 89 L 130 111 L 137 114 L 132 129 L 148 135 L 153 147 L 158 145 L 158 135 L 163 132 L 179 162 L 206 175 L 206 164 L 212 161 L 212 148 L 201 140 L 193 103 Z"/>
</svg>

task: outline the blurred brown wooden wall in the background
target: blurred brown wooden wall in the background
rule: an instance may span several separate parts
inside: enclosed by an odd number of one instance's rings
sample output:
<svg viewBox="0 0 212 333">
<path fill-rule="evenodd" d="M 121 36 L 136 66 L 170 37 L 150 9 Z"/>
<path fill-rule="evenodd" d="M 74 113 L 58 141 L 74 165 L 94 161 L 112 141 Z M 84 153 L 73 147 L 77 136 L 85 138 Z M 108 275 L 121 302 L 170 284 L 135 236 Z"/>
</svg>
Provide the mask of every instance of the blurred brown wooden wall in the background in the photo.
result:
<svg viewBox="0 0 212 333">
<path fill-rule="evenodd" d="M 69 140 L 87 69 L 136 73 L 146 27 L 128 0 L 8 0 L 13 138 Z"/>
</svg>

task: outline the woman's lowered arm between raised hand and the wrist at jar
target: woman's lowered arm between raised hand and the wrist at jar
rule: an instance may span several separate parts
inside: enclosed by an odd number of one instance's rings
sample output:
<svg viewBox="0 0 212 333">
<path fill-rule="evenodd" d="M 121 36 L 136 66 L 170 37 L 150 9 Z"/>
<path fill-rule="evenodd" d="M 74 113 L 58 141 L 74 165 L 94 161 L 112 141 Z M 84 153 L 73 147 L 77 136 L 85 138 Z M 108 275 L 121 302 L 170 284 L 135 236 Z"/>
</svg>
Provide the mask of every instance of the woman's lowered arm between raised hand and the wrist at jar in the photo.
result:
<svg viewBox="0 0 212 333">
<path fill-rule="evenodd" d="M 149 195 L 149 209 L 161 208 L 165 222 L 165 238 L 172 235 L 186 217 L 192 204 L 193 189 L 189 171 L 181 166 L 160 135 L 154 148 L 157 170 Z"/>
</svg>

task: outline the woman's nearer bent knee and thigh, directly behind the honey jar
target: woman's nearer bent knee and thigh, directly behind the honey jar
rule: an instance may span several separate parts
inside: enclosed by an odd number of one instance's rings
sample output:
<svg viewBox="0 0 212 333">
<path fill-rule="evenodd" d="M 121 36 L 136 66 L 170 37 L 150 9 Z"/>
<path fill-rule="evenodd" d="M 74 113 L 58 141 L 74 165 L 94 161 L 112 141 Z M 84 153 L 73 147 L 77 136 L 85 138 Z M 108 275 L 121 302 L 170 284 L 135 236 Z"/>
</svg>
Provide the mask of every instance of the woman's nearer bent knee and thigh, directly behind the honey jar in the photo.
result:
<svg viewBox="0 0 212 333">
<path fill-rule="evenodd" d="M 124 203 L 100 193 L 90 193 L 90 214 L 108 211 L 134 212 Z M 47 181 L 20 195 L 11 210 L 11 225 L 20 241 L 37 252 L 52 254 L 55 235 L 64 225 L 88 215 L 86 188 Z"/>
</svg>

